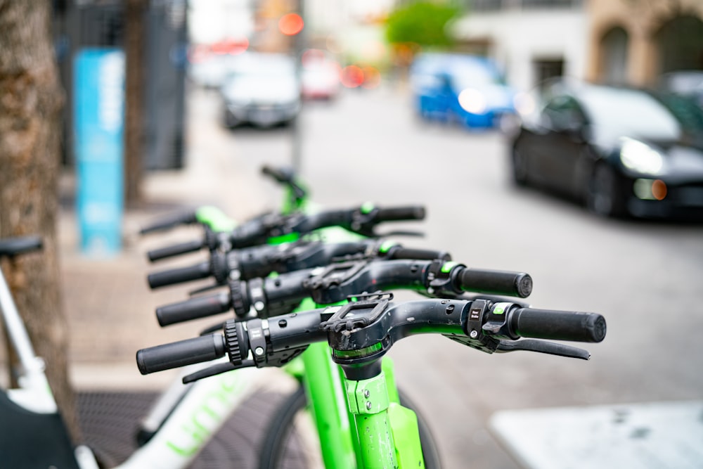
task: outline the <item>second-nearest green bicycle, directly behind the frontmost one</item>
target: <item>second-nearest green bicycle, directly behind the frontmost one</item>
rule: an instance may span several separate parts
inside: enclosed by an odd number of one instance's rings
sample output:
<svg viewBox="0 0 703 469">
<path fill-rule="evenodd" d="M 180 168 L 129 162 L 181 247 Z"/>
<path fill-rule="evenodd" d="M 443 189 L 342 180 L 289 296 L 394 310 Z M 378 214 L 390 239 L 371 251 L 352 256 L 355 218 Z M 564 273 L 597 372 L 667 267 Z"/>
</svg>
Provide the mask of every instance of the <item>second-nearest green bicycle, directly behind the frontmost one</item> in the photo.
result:
<svg viewBox="0 0 703 469">
<path fill-rule="evenodd" d="M 338 262 L 322 269 L 306 269 L 280 274 L 273 278 L 238 281 L 231 284 L 229 293 L 218 293 L 193 298 L 185 302 L 169 304 L 157 309 L 162 323 L 176 323 L 202 316 L 218 314 L 233 309 L 240 318 L 247 317 L 255 309 L 259 317 L 269 321 L 280 317 L 302 301 L 296 311 L 314 309 L 317 304 L 340 302 L 356 292 L 370 288 L 413 288 L 434 295 L 459 295 L 463 290 L 489 294 L 502 293 L 525 297 L 529 295 L 531 279 L 527 274 L 482 271 L 467 269 L 462 264 L 444 261 L 420 261 L 418 259 L 376 259 Z M 432 292 L 432 293 L 430 293 Z M 314 301 L 314 302 L 313 302 Z M 301 351 L 302 352 L 302 351 Z M 285 356 L 280 364 L 292 364 L 297 354 Z M 300 355 L 304 371 L 296 373 L 302 386 L 280 406 L 280 413 L 269 425 L 269 432 L 262 445 L 260 467 L 274 468 L 286 456 L 285 439 L 292 428 L 292 418 L 306 402 L 311 404 L 319 441 L 319 451 L 325 467 L 354 468 L 361 461 L 358 446 L 354 445 L 354 431 L 349 426 L 354 417 L 349 415 L 348 402 L 340 371 L 330 361 L 330 350 L 324 343 L 312 344 Z M 209 373 L 232 369 L 233 365 L 218 364 L 209 370 L 186 378 L 199 379 Z M 383 360 L 387 388 L 392 390 L 389 398 L 396 404 L 407 404 L 407 399 L 396 389 L 392 364 Z M 432 440 L 427 425 L 419 419 L 421 448 L 427 467 L 439 467 L 439 452 Z"/>
</svg>

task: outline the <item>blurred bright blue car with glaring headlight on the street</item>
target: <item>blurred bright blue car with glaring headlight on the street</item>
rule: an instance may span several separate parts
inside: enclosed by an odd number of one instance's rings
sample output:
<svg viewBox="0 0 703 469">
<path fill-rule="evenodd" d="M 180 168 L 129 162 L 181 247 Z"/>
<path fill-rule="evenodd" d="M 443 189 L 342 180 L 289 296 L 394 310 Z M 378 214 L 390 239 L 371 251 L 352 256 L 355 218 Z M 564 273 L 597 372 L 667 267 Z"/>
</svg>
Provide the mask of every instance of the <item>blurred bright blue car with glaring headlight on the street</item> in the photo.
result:
<svg viewBox="0 0 703 469">
<path fill-rule="evenodd" d="M 415 110 L 426 119 L 494 128 L 515 115 L 516 91 L 488 58 L 420 53 L 411 65 L 410 82 Z"/>
</svg>

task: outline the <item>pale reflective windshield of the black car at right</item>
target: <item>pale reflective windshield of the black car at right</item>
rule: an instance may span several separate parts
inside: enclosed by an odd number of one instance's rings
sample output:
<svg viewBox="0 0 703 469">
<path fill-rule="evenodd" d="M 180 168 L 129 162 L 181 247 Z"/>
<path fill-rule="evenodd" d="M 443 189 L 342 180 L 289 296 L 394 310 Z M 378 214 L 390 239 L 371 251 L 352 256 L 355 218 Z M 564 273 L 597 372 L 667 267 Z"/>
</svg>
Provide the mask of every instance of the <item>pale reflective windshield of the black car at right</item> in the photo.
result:
<svg viewBox="0 0 703 469">
<path fill-rule="evenodd" d="M 671 141 L 681 136 L 681 124 L 676 117 L 643 91 L 587 86 L 581 90 L 581 98 L 593 131 L 603 139 L 632 136 Z"/>
</svg>

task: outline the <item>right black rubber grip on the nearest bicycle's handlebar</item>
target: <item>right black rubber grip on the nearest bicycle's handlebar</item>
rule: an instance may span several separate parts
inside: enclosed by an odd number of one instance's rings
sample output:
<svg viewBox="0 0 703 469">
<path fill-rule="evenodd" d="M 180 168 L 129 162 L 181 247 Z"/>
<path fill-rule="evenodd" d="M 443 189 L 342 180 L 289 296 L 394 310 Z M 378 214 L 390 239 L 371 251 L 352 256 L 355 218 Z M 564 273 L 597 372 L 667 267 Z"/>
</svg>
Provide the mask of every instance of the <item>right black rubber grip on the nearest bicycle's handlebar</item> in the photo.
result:
<svg viewBox="0 0 703 469">
<path fill-rule="evenodd" d="M 600 342 L 605 338 L 605 318 L 596 313 L 518 308 L 510 329 L 527 338 Z"/>
</svg>

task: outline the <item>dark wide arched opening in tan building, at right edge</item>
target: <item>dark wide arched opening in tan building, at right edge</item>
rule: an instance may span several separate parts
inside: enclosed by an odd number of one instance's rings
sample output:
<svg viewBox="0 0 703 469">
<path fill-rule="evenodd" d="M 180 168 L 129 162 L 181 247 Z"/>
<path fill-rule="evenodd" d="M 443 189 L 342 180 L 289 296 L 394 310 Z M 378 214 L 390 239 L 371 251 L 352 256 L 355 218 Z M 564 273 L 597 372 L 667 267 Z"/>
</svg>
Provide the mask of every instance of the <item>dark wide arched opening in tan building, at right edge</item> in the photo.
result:
<svg viewBox="0 0 703 469">
<path fill-rule="evenodd" d="M 703 21 L 695 16 L 673 18 L 654 35 L 659 48 L 659 74 L 703 70 Z"/>
</svg>

